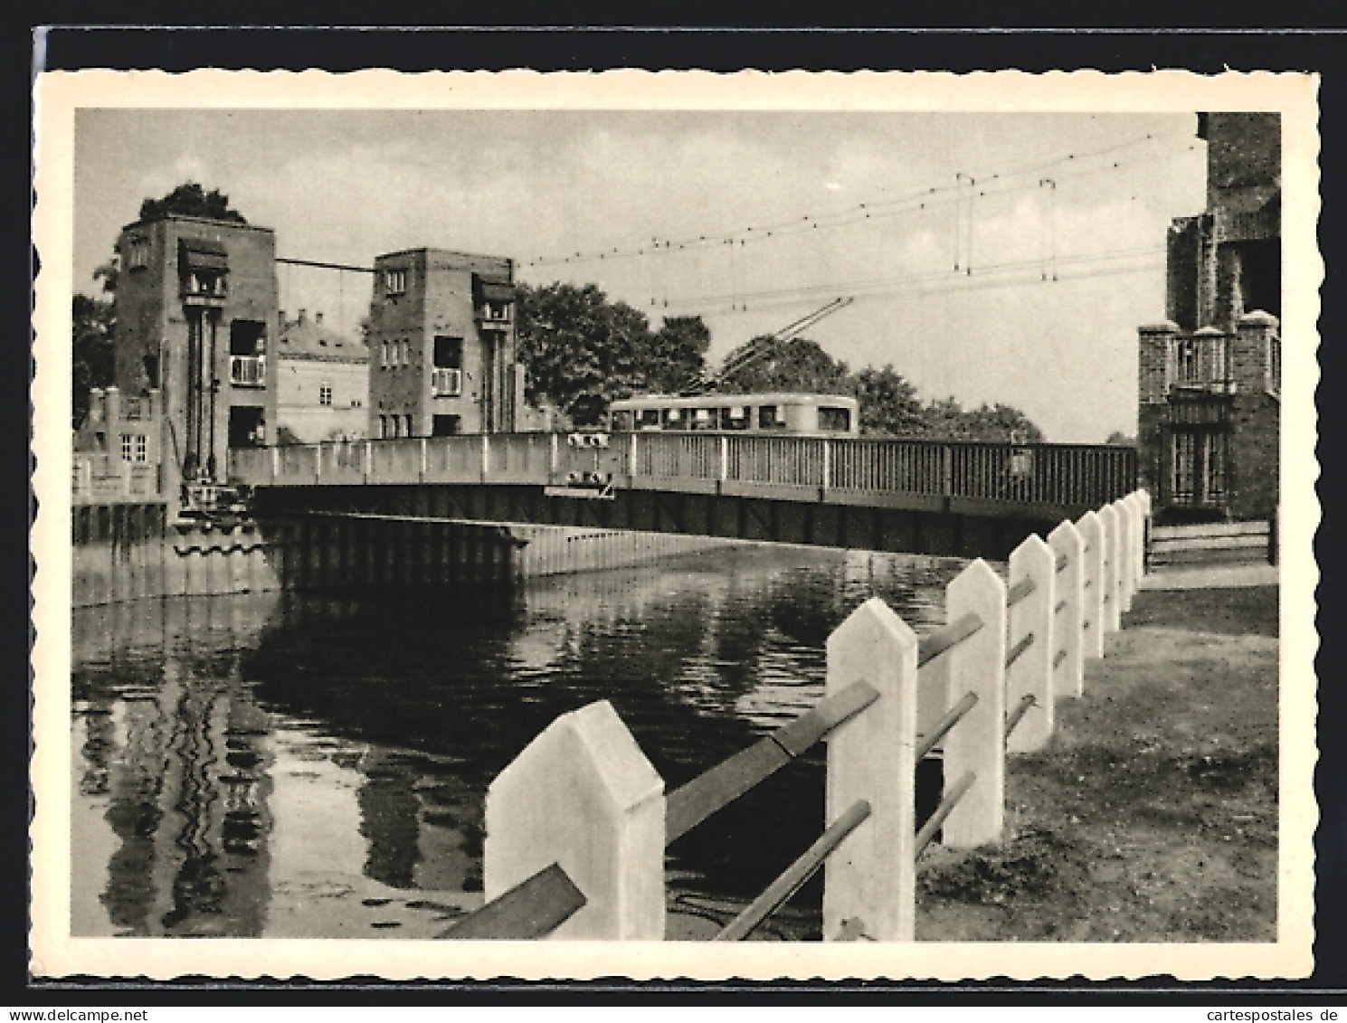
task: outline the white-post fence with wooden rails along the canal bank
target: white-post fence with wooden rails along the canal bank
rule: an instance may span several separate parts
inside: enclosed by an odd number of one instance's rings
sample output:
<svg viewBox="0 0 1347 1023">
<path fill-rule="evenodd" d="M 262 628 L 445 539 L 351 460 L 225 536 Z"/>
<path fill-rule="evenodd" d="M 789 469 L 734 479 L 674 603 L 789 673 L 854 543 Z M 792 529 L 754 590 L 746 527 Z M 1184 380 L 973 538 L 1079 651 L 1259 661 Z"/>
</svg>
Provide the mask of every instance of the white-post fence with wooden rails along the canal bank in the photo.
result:
<svg viewBox="0 0 1347 1023">
<path fill-rule="evenodd" d="M 668 796 L 607 700 L 562 715 L 488 789 L 488 903 L 445 937 L 663 940 L 665 848 L 827 739 L 823 833 L 715 940 L 748 937 L 823 870 L 826 941 L 913 941 L 921 853 L 1002 841 L 1006 756 L 1041 748 L 1055 700 L 1083 693 L 1084 634 L 1119 627 L 1088 594 L 1130 606 L 1149 513 L 1136 491 L 1030 536 L 1008 580 L 973 561 L 924 638 L 872 598 L 828 637 L 811 711 Z M 944 789 L 919 828 L 916 765 L 936 750 Z"/>
</svg>

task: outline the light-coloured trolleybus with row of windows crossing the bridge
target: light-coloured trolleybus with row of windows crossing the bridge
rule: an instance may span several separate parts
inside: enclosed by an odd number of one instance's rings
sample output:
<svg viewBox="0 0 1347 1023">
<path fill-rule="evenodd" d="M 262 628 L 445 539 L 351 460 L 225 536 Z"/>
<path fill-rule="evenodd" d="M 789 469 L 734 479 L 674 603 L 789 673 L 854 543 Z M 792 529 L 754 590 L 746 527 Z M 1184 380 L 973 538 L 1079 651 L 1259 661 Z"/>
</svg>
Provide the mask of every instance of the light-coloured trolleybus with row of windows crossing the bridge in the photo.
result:
<svg viewBox="0 0 1347 1023">
<path fill-rule="evenodd" d="M 609 408 L 614 433 L 717 432 L 766 436 L 855 437 L 861 409 L 845 394 L 641 394 Z"/>
</svg>

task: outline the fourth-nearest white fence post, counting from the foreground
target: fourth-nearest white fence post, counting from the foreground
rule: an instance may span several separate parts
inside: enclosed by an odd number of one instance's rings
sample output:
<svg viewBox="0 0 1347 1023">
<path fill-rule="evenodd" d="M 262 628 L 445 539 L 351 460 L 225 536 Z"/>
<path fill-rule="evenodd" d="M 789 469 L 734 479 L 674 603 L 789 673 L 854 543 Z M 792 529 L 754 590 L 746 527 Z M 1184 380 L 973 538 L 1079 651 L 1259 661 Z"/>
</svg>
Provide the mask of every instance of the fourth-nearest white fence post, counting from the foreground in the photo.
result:
<svg viewBox="0 0 1347 1023">
<path fill-rule="evenodd" d="M 1033 705 L 1006 739 L 1010 752 L 1041 750 L 1052 735 L 1055 561 L 1052 548 L 1037 533 L 1025 537 L 1010 553 L 1010 590 L 1022 580 L 1033 580 L 1033 592 L 1006 610 L 1009 653 L 1016 654 L 1006 665 L 1006 712 L 1025 696 L 1033 697 Z M 1022 642 L 1028 646 L 1020 646 Z"/>
</svg>

